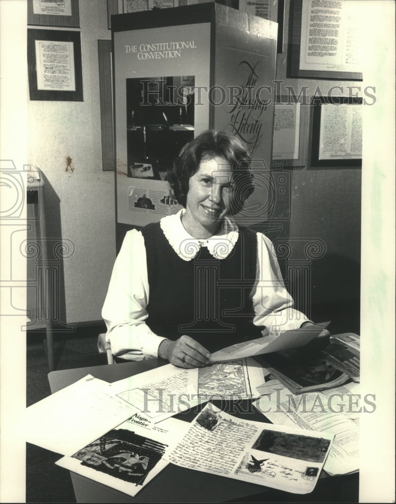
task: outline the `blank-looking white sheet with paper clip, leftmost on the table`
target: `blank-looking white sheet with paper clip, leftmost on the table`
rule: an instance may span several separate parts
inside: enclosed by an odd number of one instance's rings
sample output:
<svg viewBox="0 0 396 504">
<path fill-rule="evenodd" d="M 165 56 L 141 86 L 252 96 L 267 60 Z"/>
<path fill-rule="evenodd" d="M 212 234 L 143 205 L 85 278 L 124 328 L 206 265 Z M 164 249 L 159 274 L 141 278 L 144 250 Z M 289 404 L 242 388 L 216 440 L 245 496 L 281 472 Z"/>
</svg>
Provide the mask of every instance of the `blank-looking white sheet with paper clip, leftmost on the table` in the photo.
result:
<svg viewBox="0 0 396 504">
<path fill-rule="evenodd" d="M 131 406 L 109 393 L 110 384 L 87 374 L 78 382 L 26 408 L 26 441 L 62 455 L 124 422 Z M 135 410 L 136 411 L 136 410 Z"/>
</svg>

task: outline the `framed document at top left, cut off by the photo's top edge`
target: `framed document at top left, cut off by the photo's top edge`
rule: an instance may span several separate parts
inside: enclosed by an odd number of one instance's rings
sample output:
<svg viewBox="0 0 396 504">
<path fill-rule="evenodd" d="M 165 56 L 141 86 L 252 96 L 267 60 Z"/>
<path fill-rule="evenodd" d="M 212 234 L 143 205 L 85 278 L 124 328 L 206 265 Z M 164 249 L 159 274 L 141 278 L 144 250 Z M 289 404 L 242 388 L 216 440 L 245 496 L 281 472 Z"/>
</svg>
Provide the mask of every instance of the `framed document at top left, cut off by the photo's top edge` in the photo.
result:
<svg viewBox="0 0 396 504">
<path fill-rule="evenodd" d="M 41 0 L 28 0 L 28 25 L 80 28 L 78 0 L 63 0 L 63 2 L 63 7 L 61 5 L 51 7 L 48 4 L 41 5 Z"/>
</svg>

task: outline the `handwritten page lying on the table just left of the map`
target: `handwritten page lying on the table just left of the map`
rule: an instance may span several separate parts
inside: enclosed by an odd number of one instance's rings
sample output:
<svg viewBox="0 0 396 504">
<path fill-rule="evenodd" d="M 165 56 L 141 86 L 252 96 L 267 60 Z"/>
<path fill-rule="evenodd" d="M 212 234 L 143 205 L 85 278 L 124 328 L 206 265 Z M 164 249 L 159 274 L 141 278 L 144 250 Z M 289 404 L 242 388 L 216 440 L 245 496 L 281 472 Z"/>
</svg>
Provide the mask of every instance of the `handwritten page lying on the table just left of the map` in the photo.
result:
<svg viewBox="0 0 396 504">
<path fill-rule="evenodd" d="M 205 402 L 188 391 L 189 369 L 167 364 L 110 385 L 112 394 L 139 410 L 151 423 Z"/>
</svg>

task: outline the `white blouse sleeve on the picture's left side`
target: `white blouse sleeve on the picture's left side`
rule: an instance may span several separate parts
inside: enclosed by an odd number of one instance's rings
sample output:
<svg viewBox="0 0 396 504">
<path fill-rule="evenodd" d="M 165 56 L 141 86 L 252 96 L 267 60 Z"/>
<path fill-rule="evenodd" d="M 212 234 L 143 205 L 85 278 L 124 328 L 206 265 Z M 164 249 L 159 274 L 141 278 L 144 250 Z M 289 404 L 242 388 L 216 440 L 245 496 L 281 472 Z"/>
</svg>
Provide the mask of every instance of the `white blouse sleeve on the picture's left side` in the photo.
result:
<svg viewBox="0 0 396 504">
<path fill-rule="evenodd" d="M 158 357 L 162 338 L 146 325 L 149 285 L 146 249 L 140 231 L 129 231 L 112 270 L 102 318 L 114 355 L 128 360 Z"/>
</svg>

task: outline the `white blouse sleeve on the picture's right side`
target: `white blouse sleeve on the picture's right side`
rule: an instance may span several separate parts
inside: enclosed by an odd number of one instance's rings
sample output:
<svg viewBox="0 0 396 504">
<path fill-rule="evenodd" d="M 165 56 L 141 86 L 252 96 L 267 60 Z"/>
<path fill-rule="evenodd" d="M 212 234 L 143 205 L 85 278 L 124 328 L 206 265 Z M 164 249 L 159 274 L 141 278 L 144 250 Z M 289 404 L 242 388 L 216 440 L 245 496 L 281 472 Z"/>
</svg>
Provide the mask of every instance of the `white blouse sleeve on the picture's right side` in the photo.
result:
<svg viewBox="0 0 396 504">
<path fill-rule="evenodd" d="M 285 288 L 274 246 L 269 238 L 257 233 L 256 287 L 251 293 L 256 326 L 265 326 L 266 334 L 279 335 L 297 329 L 309 319 L 293 308 L 294 302 Z"/>
</svg>

